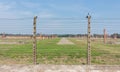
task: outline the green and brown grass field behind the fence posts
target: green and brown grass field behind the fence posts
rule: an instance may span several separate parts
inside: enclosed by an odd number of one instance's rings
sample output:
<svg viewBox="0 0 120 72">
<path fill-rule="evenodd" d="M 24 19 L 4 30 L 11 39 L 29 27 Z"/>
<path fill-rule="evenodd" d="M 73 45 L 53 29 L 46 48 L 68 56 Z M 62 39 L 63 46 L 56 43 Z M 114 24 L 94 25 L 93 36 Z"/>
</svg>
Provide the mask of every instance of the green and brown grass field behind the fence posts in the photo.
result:
<svg viewBox="0 0 120 72">
<path fill-rule="evenodd" d="M 74 45 L 57 45 L 61 38 L 37 41 L 39 64 L 86 64 L 86 39 L 69 38 Z M 25 44 L 0 44 L 0 64 L 32 64 L 32 40 L 0 40 L 0 42 Z M 102 40 L 91 43 L 92 64 L 120 65 L 120 44 L 103 44 Z"/>
</svg>

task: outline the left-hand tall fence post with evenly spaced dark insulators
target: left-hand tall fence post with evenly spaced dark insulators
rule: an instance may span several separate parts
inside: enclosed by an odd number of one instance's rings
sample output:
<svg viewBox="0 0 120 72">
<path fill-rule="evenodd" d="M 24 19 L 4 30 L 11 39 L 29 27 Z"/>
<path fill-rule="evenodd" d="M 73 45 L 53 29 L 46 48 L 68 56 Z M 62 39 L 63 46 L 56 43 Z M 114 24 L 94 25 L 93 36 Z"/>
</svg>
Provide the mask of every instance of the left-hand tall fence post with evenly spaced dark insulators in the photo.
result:
<svg viewBox="0 0 120 72">
<path fill-rule="evenodd" d="M 37 64 L 36 19 L 37 19 L 37 16 L 34 17 L 34 21 L 33 21 L 33 63 L 34 64 Z"/>
</svg>

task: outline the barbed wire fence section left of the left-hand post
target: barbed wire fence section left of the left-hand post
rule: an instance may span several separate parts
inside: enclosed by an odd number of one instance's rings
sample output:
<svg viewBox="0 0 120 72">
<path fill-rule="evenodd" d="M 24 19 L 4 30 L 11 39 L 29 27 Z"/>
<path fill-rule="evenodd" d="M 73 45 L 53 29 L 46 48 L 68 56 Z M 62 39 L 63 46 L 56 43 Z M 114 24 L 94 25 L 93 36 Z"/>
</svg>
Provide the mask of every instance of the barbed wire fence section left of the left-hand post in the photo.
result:
<svg viewBox="0 0 120 72">
<path fill-rule="evenodd" d="M 33 18 L 0 18 L 0 63 L 32 62 Z"/>
</svg>

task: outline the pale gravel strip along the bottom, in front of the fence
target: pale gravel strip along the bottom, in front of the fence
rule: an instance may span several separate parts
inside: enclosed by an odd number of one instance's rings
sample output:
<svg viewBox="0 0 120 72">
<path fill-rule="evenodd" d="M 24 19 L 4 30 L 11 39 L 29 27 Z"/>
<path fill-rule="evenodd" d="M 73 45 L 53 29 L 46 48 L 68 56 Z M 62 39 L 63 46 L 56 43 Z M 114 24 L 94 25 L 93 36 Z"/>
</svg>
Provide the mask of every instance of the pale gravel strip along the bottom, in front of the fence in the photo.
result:
<svg viewBox="0 0 120 72">
<path fill-rule="evenodd" d="M 120 66 L 0 65 L 0 72 L 120 72 Z"/>
</svg>

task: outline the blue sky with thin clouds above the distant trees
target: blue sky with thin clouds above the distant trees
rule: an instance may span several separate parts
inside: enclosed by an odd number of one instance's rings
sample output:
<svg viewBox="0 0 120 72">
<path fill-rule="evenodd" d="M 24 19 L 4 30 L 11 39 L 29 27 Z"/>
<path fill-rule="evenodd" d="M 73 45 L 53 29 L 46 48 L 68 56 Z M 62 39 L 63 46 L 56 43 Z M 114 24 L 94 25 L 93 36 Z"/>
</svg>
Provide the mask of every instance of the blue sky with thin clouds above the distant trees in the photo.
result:
<svg viewBox="0 0 120 72">
<path fill-rule="evenodd" d="M 88 13 L 92 33 L 120 33 L 120 0 L 0 0 L 0 33 L 87 33 Z M 22 19 L 22 20 L 19 20 Z"/>
</svg>

